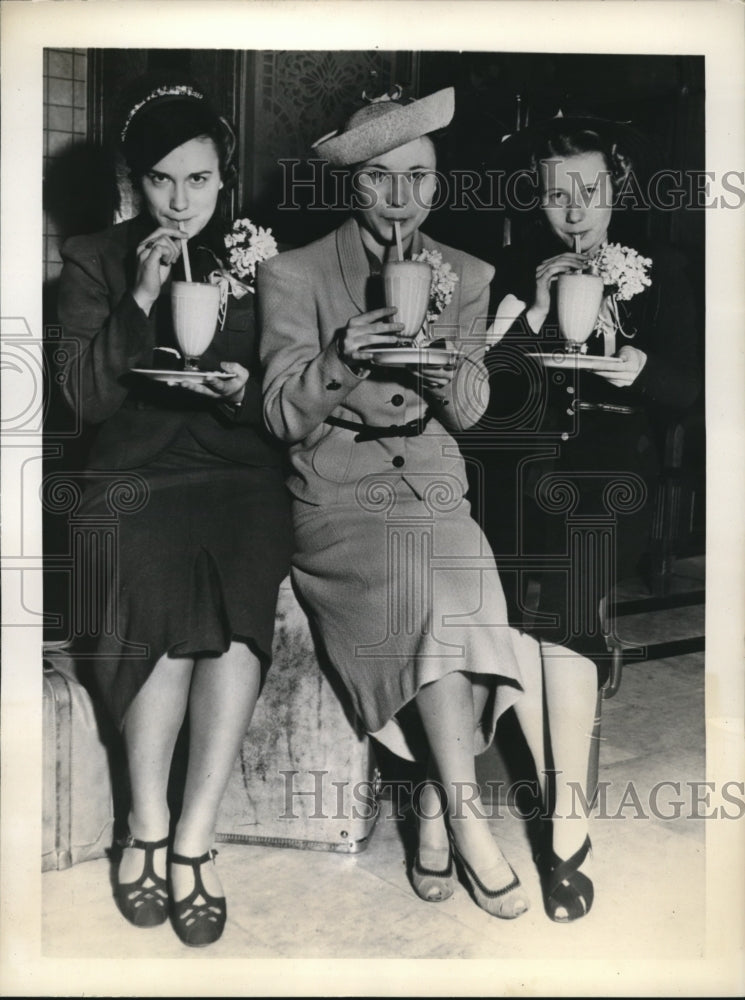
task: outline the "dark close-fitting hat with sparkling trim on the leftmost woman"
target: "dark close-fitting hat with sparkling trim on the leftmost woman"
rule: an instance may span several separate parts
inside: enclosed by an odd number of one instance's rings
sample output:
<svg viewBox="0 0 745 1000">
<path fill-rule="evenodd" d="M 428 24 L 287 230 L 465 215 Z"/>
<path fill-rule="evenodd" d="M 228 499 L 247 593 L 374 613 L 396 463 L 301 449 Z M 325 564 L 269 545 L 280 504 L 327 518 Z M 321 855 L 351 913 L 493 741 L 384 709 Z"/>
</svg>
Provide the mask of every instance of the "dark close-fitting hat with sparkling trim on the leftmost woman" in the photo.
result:
<svg viewBox="0 0 745 1000">
<path fill-rule="evenodd" d="M 221 119 L 204 94 L 187 84 L 157 87 L 129 111 L 121 130 L 122 152 L 135 174 L 199 135 L 209 135 Z"/>
</svg>

